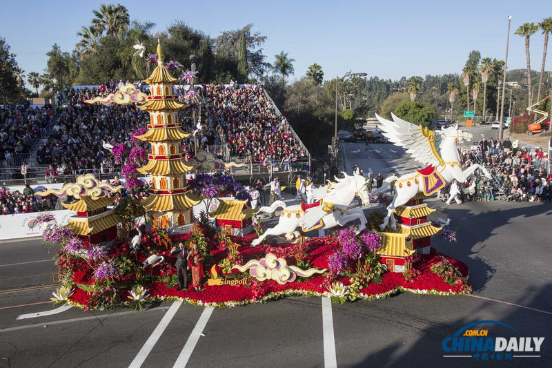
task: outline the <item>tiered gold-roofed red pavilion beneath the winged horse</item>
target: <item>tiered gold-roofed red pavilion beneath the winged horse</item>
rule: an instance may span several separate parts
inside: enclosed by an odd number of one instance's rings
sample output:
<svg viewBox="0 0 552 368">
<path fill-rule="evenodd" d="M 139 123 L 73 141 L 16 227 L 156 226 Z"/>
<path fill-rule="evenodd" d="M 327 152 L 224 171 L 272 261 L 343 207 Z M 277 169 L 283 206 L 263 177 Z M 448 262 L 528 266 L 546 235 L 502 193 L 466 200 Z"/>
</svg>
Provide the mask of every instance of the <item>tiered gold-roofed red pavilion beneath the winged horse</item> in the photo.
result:
<svg viewBox="0 0 552 368">
<path fill-rule="evenodd" d="M 442 228 L 435 227 L 428 221 L 427 216 L 435 212 L 424 203 L 424 195 L 418 193 L 404 206 L 395 209 L 397 217 L 397 232 L 382 232 L 382 249 L 377 252 L 388 271 L 402 272 L 405 258 L 413 253 L 428 254 L 430 251 L 431 236 Z"/>
</svg>

